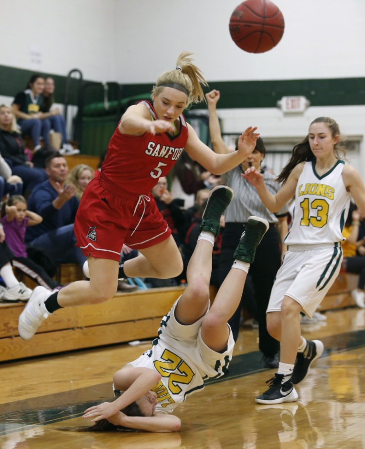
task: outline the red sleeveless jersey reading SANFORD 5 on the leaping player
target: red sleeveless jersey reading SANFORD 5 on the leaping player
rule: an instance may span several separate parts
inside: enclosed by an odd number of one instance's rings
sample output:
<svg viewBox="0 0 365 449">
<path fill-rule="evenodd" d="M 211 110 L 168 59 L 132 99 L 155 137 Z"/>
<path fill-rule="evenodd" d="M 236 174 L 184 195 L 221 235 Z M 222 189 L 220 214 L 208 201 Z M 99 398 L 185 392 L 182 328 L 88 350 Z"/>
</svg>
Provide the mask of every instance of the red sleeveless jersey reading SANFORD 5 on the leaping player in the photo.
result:
<svg viewBox="0 0 365 449">
<path fill-rule="evenodd" d="M 153 120 L 156 112 L 148 101 L 141 101 Z M 112 135 L 107 156 L 100 173 L 101 185 L 120 196 L 148 193 L 161 176 L 166 176 L 175 165 L 188 138 L 183 115 L 179 117 L 180 132 L 141 136 L 122 134 L 118 127 Z"/>
</svg>

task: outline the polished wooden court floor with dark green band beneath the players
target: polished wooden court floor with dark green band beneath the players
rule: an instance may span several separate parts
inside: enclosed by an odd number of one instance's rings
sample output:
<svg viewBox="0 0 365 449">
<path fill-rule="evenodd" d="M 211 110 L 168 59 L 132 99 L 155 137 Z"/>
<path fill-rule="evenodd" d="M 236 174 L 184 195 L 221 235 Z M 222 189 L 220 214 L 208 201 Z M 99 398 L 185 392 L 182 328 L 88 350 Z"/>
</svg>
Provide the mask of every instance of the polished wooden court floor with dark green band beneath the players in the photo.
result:
<svg viewBox="0 0 365 449">
<path fill-rule="evenodd" d="M 365 448 L 365 310 L 327 312 L 305 324 L 325 352 L 297 387 L 299 400 L 257 405 L 274 370 L 264 369 L 257 330 L 243 328 L 229 373 L 178 410 L 179 433 L 77 433 L 89 405 L 111 396 L 111 376 L 148 345 L 128 344 L 2 363 L 1 449 Z M 30 341 L 32 344 L 32 341 Z"/>
</svg>

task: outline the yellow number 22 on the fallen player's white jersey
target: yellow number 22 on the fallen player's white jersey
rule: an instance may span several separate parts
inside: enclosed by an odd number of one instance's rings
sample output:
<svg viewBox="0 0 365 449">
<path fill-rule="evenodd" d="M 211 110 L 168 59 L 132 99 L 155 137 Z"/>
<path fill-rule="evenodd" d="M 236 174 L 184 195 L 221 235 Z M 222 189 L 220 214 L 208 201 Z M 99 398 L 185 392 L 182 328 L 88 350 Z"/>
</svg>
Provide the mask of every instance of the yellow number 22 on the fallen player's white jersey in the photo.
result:
<svg viewBox="0 0 365 449">
<path fill-rule="evenodd" d="M 155 360 L 155 368 L 163 377 L 168 377 L 168 388 L 170 392 L 179 394 L 182 389 L 177 384 L 189 384 L 194 377 L 194 373 L 189 365 L 187 365 L 178 355 L 167 349 L 164 350 L 161 358 L 166 360 L 166 362 Z M 181 374 L 171 373 L 171 371 L 175 370 Z"/>
</svg>

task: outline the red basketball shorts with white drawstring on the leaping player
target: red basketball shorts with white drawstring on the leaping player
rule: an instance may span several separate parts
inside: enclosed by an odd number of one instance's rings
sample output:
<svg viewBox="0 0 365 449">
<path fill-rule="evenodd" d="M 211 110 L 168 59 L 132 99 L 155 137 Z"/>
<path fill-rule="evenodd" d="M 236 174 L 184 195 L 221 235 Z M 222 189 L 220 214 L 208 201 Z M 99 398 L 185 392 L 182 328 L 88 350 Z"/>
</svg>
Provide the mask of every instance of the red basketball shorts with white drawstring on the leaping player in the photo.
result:
<svg viewBox="0 0 365 449">
<path fill-rule="evenodd" d="M 171 235 L 151 193 L 133 199 L 117 196 L 100 185 L 99 177 L 82 195 L 74 232 L 85 256 L 118 262 L 123 243 L 138 250 Z"/>
</svg>

